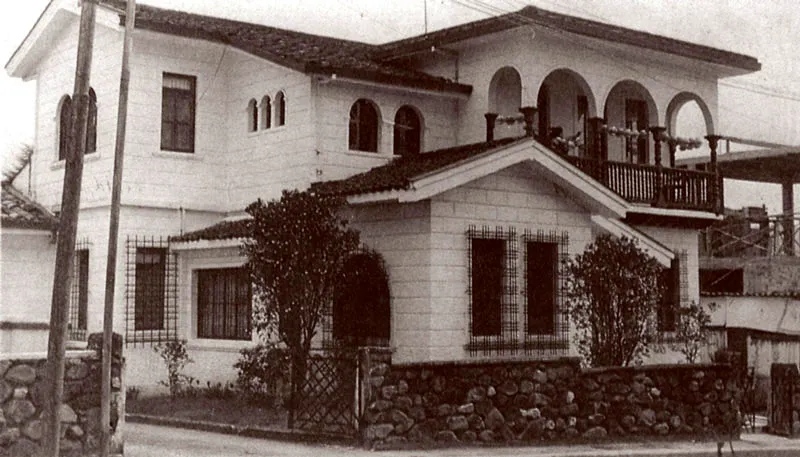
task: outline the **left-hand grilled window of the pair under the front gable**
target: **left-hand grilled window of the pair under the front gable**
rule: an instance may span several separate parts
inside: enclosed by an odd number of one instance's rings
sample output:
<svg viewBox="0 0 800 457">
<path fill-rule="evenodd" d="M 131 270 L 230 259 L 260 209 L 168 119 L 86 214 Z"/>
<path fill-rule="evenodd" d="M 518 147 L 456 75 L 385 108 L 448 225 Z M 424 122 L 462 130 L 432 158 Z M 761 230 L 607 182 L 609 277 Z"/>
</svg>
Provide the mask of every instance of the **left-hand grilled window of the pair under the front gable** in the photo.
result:
<svg viewBox="0 0 800 457">
<path fill-rule="evenodd" d="M 516 351 L 517 240 L 513 228 L 467 231 L 470 355 Z"/>
</svg>

